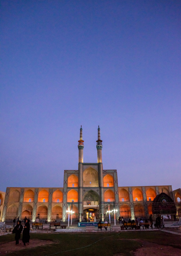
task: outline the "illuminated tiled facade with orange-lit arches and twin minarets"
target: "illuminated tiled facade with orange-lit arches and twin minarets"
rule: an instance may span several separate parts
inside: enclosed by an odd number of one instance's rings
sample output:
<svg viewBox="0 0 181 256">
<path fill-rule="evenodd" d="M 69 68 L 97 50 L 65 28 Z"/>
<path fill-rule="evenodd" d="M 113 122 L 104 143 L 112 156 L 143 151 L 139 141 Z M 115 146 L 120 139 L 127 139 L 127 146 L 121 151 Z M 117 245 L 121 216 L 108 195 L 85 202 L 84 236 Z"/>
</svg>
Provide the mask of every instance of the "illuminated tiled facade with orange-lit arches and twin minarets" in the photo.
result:
<svg viewBox="0 0 181 256">
<path fill-rule="evenodd" d="M 78 170 L 64 170 L 63 188 L 7 188 L 1 220 L 26 216 L 35 221 L 38 216 L 49 222 L 66 221 L 68 205 L 73 206 L 73 219 L 84 221 L 87 213 L 92 212 L 97 219 L 104 220 L 108 206 L 113 209 L 113 204 L 118 210 L 117 217 L 144 218 L 152 214 L 152 201 L 158 194 L 164 192 L 174 201 L 176 194 L 170 185 L 118 187 L 117 170 L 103 170 L 99 127 L 96 142 L 97 163 L 84 163 L 81 127 Z"/>
</svg>

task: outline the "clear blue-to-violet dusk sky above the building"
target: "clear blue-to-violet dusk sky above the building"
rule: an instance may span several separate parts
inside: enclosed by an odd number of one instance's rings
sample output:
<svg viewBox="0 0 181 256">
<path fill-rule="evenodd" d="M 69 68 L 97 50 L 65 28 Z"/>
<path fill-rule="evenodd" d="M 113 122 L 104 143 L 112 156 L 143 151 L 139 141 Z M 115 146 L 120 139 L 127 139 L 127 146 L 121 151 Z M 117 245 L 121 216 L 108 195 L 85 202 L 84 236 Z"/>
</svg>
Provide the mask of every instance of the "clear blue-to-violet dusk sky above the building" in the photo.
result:
<svg viewBox="0 0 181 256">
<path fill-rule="evenodd" d="M 63 187 L 84 163 L 119 186 L 181 188 L 181 1 L 1 1 L 0 190 Z"/>
</svg>

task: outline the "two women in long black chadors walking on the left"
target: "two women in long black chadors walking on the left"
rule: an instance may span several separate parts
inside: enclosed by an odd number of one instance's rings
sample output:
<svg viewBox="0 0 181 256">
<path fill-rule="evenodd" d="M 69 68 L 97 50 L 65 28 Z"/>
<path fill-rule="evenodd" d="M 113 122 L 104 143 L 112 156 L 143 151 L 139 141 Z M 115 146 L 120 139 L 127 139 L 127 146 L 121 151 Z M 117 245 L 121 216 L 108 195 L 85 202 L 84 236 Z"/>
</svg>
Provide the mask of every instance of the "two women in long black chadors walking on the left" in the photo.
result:
<svg viewBox="0 0 181 256">
<path fill-rule="evenodd" d="M 20 239 L 22 230 L 23 230 L 23 226 L 21 225 L 21 220 L 19 220 L 14 230 L 12 230 L 12 234 L 15 234 L 16 245 L 19 244 L 19 239 Z M 26 246 L 26 243 L 29 245 L 29 242 L 30 242 L 30 220 L 27 220 L 27 219 L 25 222 L 24 230 L 23 230 L 22 242 L 24 243 L 24 246 Z"/>
</svg>

